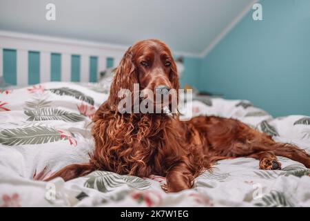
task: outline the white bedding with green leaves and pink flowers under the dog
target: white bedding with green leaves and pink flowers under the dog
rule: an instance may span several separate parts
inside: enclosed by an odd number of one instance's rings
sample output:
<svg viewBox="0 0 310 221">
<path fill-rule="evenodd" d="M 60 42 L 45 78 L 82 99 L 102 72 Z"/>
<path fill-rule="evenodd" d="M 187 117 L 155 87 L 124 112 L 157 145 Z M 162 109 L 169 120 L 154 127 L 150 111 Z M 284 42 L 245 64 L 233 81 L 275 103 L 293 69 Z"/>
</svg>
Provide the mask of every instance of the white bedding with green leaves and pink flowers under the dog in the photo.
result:
<svg viewBox="0 0 310 221">
<path fill-rule="evenodd" d="M 262 171 L 247 157 L 218 161 L 179 193 L 165 193 L 165 177 L 156 174 L 94 171 L 43 182 L 63 166 L 88 161 L 92 117 L 107 92 L 101 84 L 65 82 L 0 90 L 0 206 L 310 206 L 310 170 L 285 157 L 279 171 Z M 310 117 L 273 118 L 248 101 L 222 98 L 194 100 L 191 108 L 194 116 L 239 119 L 310 152 Z"/>
</svg>

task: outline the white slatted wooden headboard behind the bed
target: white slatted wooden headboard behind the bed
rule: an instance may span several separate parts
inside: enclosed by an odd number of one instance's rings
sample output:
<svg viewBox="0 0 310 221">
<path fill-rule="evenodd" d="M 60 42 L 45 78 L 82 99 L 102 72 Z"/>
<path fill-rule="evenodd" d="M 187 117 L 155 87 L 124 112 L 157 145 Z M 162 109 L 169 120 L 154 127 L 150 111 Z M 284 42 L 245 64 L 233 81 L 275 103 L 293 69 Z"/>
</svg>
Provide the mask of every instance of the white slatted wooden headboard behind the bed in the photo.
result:
<svg viewBox="0 0 310 221">
<path fill-rule="evenodd" d="M 107 68 L 107 63 L 111 63 L 109 61 L 113 63 L 110 67 L 118 65 L 126 49 L 125 46 L 92 41 L 0 30 L 0 77 L 17 86 L 51 81 L 51 68 L 54 66 L 51 55 L 58 55 L 56 69 L 60 72 L 59 81 L 72 81 L 72 69 L 79 72 L 73 73 L 77 75 L 74 81 L 95 81 Z M 73 65 L 74 56 L 77 59 Z"/>
</svg>

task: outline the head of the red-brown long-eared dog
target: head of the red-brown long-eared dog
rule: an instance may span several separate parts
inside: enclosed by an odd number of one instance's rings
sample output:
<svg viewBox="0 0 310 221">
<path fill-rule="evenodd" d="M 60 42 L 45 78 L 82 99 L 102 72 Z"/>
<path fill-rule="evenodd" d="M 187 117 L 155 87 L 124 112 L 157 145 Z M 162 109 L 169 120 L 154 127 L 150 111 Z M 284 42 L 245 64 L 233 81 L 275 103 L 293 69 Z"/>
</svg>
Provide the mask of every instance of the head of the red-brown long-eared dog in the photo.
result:
<svg viewBox="0 0 310 221">
<path fill-rule="evenodd" d="M 110 108 L 115 110 L 118 107 L 124 97 L 120 91 L 124 89 L 132 94 L 138 93 L 140 100 L 145 99 L 155 106 L 160 100 L 158 97 L 165 95 L 169 97 L 169 104 L 174 102 L 171 100 L 173 97 L 178 102 L 178 73 L 166 44 L 149 39 L 138 41 L 128 48 L 115 71 L 110 88 Z M 161 106 L 167 105 L 163 104 L 164 100 L 161 99 Z"/>
</svg>

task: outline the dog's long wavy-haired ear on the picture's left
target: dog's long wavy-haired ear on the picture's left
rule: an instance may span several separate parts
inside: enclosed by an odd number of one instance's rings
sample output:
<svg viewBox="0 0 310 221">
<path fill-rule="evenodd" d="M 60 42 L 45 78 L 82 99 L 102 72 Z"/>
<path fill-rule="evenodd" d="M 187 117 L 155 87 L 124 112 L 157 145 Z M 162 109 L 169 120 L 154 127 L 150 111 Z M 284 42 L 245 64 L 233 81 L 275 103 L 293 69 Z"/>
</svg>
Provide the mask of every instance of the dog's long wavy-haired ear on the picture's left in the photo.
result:
<svg viewBox="0 0 310 221">
<path fill-rule="evenodd" d="M 118 96 L 122 89 L 134 92 L 134 84 L 138 84 L 136 67 L 132 61 L 132 48 L 128 48 L 115 70 L 114 79 L 110 88 L 109 104 L 112 110 L 116 110 L 118 103 L 123 97 Z"/>
</svg>

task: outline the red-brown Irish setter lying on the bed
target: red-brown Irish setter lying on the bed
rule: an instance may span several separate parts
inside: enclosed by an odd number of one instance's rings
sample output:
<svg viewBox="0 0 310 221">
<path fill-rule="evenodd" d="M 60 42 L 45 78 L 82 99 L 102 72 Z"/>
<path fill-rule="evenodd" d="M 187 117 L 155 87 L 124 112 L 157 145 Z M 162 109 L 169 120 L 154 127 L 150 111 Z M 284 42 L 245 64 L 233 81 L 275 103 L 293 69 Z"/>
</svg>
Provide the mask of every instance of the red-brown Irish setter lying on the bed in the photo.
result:
<svg viewBox="0 0 310 221">
<path fill-rule="evenodd" d="M 178 90 L 178 73 L 169 48 L 161 41 L 138 41 L 130 47 L 110 88 L 110 97 L 96 111 L 92 128 L 95 148 L 87 164 L 71 164 L 54 173 L 70 180 L 95 170 L 167 178 L 163 189 L 178 192 L 189 189 L 194 178 L 216 160 L 253 157 L 259 168 L 280 169 L 276 155 L 289 157 L 310 167 L 310 155 L 292 144 L 274 142 L 269 135 L 239 122 L 214 116 L 180 121 L 178 113 L 120 113 L 122 89 L 146 88 Z M 145 95 L 143 95 L 145 96 Z M 145 96 L 147 98 L 147 96 Z"/>
</svg>

